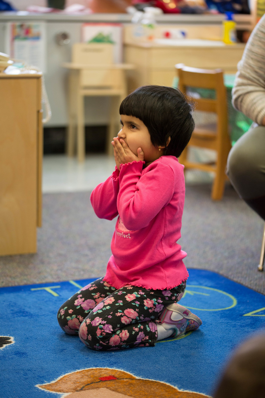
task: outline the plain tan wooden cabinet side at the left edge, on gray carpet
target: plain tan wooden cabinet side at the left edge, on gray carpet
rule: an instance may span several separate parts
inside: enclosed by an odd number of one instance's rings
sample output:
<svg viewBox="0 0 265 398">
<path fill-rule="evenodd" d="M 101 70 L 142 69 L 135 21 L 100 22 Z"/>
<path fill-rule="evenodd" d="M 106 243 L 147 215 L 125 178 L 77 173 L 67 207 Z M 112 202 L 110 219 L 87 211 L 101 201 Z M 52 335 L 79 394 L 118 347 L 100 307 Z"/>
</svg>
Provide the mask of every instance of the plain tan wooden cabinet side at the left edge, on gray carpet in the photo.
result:
<svg viewBox="0 0 265 398">
<path fill-rule="evenodd" d="M 37 252 L 42 154 L 41 74 L 0 73 L 0 256 Z"/>
</svg>

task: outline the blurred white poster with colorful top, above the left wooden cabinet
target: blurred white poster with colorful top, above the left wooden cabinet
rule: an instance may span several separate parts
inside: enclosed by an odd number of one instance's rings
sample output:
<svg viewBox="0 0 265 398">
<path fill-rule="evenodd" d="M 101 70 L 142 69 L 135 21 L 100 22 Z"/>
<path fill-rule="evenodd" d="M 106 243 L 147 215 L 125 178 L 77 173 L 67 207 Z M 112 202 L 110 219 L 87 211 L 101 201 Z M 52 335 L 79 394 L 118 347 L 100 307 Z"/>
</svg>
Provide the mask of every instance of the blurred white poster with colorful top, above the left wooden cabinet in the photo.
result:
<svg viewBox="0 0 265 398">
<path fill-rule="evenodd" d="M 10 22 L 6 35 L 6 53 L 17 62 L 46 72 L 46 23 Z"/>
</svg>

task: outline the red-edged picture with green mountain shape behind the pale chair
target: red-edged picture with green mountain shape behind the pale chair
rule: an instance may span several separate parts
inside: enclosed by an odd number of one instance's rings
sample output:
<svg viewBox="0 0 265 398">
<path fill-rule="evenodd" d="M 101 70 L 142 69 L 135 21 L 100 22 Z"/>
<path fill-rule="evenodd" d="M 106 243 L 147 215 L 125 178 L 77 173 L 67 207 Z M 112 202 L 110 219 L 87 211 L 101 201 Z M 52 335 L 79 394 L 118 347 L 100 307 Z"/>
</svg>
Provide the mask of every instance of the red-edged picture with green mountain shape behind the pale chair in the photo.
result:
<svg viewBox="0 0 265 398">
<path fill-rule="evenodd" d="M 83 23 L 81 37 L 83 43 L 114 44 L 114 63 L 122 63 L 121 23 Z"/>
</svg>

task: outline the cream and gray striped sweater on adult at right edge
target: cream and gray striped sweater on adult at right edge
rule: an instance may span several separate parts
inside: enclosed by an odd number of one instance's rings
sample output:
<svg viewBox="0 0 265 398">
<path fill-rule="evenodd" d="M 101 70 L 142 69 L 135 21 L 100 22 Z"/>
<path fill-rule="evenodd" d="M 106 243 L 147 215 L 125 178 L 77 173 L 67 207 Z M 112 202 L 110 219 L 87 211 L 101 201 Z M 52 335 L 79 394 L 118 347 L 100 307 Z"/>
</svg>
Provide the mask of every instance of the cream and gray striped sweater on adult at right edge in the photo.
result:
<svg viewBox="0 0 265 398">
<path fill-rule="evenodd" d="M 265 15 L 246 44 L 232 90 L 232 104 L 261 125 L 265 117 Z"/>
</svg>

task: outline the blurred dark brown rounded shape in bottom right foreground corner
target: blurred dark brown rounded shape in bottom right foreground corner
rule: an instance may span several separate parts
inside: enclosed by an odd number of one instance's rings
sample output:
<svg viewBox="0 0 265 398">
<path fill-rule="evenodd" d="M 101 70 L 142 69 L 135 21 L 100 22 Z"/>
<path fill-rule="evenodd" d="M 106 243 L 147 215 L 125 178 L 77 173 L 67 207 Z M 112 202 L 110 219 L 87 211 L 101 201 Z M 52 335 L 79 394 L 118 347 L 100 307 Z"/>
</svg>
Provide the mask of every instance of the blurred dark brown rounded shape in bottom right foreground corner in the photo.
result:
<svg viewBox="0 0 265 398">
<path fill-rule="evenodd" d="M 228 362 L 213 398 L 264 398 L 265 333 L 245 341 Z"/>
</svg>

